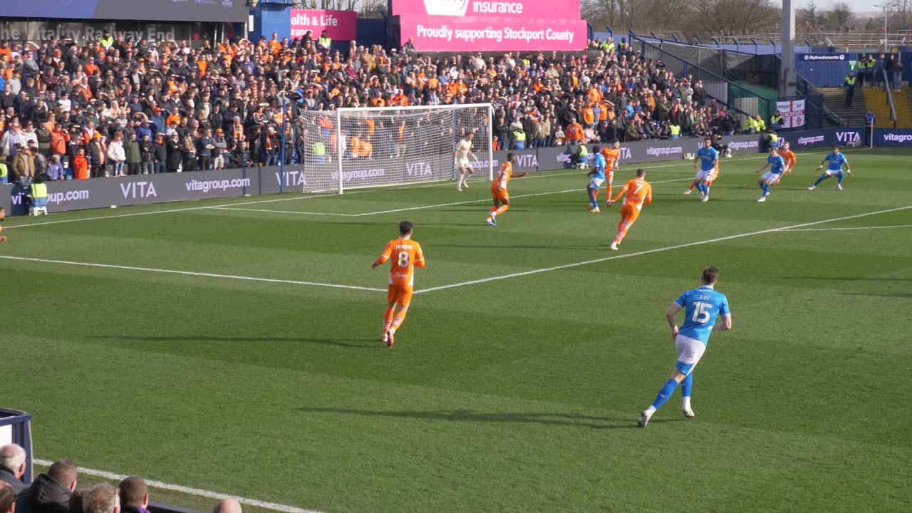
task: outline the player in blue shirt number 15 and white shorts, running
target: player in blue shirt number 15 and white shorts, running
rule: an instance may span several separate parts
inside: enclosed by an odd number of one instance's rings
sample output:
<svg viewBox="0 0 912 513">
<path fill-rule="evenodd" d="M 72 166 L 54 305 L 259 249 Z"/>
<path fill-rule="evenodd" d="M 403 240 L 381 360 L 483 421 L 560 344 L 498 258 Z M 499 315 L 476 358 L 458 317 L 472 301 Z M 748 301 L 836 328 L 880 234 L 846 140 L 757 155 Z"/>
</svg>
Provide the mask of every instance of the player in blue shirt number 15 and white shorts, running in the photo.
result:
<svg viewBox="0 0 912 513">
<path fill-rule="evenodd" d="M 690 391 L 693 388 L 693 368 L 700 361 L 706 346 L 710 342 L 713 331 L 731 330 L 731 311 L 729 299 L 725 294 L 716 290 L 719 281 L 719 269 L 706 267 L 703 269 L 702 285 L 700 288 L 691 288 L 675 299 L 665 312 L 668 326 L 671 327 L 671 338 L 675 340 L 675 349 L 678 351 L 678 362 L 675 370 L 671 372 L 668 382 L 658 391 L 655 401 L 640 414 L 639 426 L 646 427 L 652 414 L 668 400 L 681 385 L 681 395 L 684 397 L 684 416 L 693 417 L 690 408 Z M 675 315 L 684 309 L 685 321 L 678 329 Z M 716 319 L 721 316 L 722 322 L 716 324 Z"/>
</svg>

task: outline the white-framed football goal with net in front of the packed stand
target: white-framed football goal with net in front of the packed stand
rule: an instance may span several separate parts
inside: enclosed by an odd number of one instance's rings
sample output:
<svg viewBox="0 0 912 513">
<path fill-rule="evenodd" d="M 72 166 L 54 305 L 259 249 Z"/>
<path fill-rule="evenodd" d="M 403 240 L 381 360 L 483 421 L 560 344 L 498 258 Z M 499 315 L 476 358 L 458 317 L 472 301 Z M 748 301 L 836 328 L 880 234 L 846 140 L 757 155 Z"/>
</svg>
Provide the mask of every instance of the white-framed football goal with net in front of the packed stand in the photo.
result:
<svg viewBox="0 0 912 513">
<path fill-rule="evenodd" d="M 472 132 L 472 180 L 493 179 L 491 104 L 305 110 L 304 192 L 452 180 L 456 145 Z"/>
</svg>

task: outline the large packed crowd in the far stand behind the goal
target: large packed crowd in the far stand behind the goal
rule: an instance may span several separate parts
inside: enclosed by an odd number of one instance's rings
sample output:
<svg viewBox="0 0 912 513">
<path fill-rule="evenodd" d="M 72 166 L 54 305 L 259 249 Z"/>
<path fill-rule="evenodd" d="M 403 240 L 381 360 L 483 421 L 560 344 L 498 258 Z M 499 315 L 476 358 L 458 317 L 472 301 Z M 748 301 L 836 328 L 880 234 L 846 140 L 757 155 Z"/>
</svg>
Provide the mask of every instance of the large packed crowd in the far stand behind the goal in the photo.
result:
<svg viewBox="0 0 912 513">
<path fill-rule="evenodd" d="M 300 162 L 316 146 L 335 151 L 331 112 L 359 106 L 491 102 L 503 150 L 741 128 L 699 80 L 623 41 L 592 45 L 431 57 L 410 45 L 332 49 L 309 34 L 199 46 L 107 34 L 0 41 L 0 162 L 10 181 L 269 165 L 283 150 Z"/>
</svg>

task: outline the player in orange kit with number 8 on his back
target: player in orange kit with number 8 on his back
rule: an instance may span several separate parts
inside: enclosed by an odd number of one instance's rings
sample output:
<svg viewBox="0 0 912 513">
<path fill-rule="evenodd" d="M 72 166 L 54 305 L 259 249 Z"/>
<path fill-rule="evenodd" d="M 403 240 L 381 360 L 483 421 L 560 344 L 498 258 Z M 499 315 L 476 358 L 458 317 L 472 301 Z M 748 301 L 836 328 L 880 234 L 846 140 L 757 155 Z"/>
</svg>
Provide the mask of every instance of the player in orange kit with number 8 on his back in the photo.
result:
<svg viewBox="0 0 912 513">
<path fill-rule="evenodd" d="M 415 267 L 424 267 L 424 254 L 418 241 L 411 240 L 412 225 L 408 221 L 399 223 L 399 238 L 389 241 L 372 269 L 392 258 L 389 267 L 389 287 L 387 288 L 387 309 L 383 312 L 383 337 L 387 346 L 393 347 L 396 330 L 405 320 L 405 314 L 411 303 L 411 288 L 415 284 Z M 399 307 L 396 311 L 395 308 Z"/>
</svg>

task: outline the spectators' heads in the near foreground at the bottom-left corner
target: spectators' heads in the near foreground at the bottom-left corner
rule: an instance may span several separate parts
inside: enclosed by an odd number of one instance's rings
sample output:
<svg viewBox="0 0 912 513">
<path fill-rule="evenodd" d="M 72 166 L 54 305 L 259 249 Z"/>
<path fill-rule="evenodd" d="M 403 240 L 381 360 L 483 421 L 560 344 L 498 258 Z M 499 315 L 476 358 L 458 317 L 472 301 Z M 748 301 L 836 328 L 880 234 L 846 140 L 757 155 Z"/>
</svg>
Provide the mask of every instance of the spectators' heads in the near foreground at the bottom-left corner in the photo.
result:
<svg viewBox="0 0 912 513">
<path fill-rule="evenodd" d="M 149 486 L 140 476 L 124 477 L 116 487 L 108 482 L 78 487 L 78 466 L 68 459 L 51 464 L 27 487 L 25 473 L 25 449 L 0 446 L 0 513 L 150 513 Z M 242 513 L 241 504 L 222 499 L 212 513 Z"/>
</svg>

